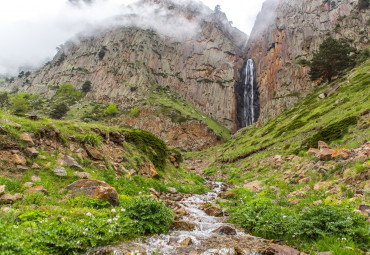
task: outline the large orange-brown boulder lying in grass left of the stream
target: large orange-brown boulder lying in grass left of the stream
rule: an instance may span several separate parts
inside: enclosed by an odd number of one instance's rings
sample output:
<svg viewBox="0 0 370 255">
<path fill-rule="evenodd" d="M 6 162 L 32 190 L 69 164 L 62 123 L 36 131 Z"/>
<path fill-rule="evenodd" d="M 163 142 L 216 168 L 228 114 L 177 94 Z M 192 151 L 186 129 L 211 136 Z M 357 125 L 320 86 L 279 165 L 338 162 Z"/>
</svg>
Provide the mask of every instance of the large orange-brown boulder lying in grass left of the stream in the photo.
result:
<svg viewBox="0 0 370 255">
<path fill-rule="evenodd" d="M 119 205 L 119 198 L 116 189 L 104 181 L 81 179 L 68 185 L 66 189 L 71 190 L 75 195 L 105 199 L 112 206 Z"/>
</svg>

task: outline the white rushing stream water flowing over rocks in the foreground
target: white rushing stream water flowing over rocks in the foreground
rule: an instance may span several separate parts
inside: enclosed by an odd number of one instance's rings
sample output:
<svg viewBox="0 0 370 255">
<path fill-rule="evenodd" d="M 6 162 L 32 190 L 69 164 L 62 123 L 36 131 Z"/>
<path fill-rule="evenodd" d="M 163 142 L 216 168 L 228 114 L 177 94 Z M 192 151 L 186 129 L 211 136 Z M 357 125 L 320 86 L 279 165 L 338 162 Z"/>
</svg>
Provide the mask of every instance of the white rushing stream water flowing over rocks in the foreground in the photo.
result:
<svg viewBox="0 0 370 255">
<path fill-rule="evenodd" d="M 146 239 L 137 239 L 115 247 L 105 247 L 113 254 L 123 255 L 129 251 L 140 251 L 152 255 L 159 242 L 163 244 L 159 254 L 163 255 L 256 255 L 265 243 L 259 239 L 245 234 L 236 226 L 226 223 L 226 217 L 208 216 L 199 206 L 205 203 L 214 203 L 220 192 L 221 183 L 216 183 L 213 192 L 204 195 L 193 195 L 179 202 L 187 212 L 182 221 L 195 223 L 193 231 L 173 230 L 168 234 L 156 235 Z M 222 235 L 213 231 L 221 226 L 231 226 L 236 235 Z M 186 238 L 191 238 L 189 246 L 181 246 Z M 237 247 L 237 248 L 236 248 Z M 144 252 L 145 251 L 145 252 Z"/>
</svg>

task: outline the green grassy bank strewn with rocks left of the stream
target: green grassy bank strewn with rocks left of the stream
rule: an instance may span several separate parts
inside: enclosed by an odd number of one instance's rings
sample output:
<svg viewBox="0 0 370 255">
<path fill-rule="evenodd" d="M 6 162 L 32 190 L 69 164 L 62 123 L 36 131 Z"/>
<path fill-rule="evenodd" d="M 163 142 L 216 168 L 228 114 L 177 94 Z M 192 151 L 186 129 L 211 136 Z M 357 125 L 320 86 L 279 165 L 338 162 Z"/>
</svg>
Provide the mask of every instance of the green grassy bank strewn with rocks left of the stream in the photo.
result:
<svg viewBox="0 0 370 255">
<path fill-rule="evenodd" d="M 28 154 L 30 144 L 22 138 L 24 133 L 32 137 L 32 146 L 39 152 L 36 157 Z M 88 147 L 102 158 L 81 152 Z M 14 155 L 25 161 L 17 163 Z M 61 167 L 63 155 L 77 161 L 78 172 L 114 187 L 120 206 L 113 209 L 104 199 L 66 190 L 80 178 L 69 165 L 63 165 L 66 176 L 54 173 Z M 0 254 L 76 254 L 89 247 L 168 231 L 173 213 L 163 202 L 149 197 L 149 188 L 168 192 L 174 187 L 183 193 L 206 190 L 201 177 L 176 168 L 173 159 L 181 163 L 181 154 L 146 131 L 30 120 L 0 112 L 0 186 L 5 185 L 5 194 L 18 193 L 16 202 L 0 209 Z M 150 163 L 159 177 L 140 176 L 143 165 Z M 31 186 L 42 189 L 31 192 Z M 143 211 L 150 212 L 150 217 L 142 215 Z"/>
</svg>

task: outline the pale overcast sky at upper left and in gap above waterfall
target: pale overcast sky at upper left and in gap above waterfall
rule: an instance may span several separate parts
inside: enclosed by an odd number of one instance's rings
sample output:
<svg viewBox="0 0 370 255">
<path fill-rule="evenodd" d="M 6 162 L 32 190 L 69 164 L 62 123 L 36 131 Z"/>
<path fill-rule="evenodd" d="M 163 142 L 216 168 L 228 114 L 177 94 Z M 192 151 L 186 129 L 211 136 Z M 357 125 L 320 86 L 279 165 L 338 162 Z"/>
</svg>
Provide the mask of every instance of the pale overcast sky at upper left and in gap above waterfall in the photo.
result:
<svg viewBox="0 0 370 255">
<path fill-rule="evenodd" d="M 137 0 L 98 0 L 88 9 L 72 8 L 67 0 L 0 0 L 0 74 L 37 65 L 56 53 L 55 48 L 88 26 L 120 14 L 120 7 Z M 196 0 L 216 5 L 234 26 L 250 34 L 264 0 Z"/>
</svg>

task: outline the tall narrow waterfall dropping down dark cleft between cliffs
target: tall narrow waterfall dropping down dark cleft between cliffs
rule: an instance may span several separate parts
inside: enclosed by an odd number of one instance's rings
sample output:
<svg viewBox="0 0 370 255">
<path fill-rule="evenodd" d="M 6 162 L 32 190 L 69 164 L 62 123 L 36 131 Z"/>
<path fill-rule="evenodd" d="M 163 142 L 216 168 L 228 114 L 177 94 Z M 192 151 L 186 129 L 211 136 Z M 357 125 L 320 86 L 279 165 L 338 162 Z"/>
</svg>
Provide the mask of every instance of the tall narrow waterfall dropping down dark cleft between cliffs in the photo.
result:
<svg viewBox="0 0 370 255">
<path fill-rule="evenodd" d="M 242 70 L 242 82 L 237 88 L 238 127 L 252 125 L 260 114 L 259 92 L 253 59 L 248 59 Z M 238 95 L 239 94 L 239 95 Z"/>
</svg>

